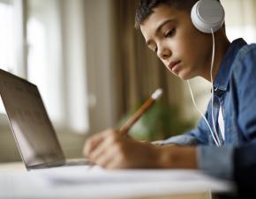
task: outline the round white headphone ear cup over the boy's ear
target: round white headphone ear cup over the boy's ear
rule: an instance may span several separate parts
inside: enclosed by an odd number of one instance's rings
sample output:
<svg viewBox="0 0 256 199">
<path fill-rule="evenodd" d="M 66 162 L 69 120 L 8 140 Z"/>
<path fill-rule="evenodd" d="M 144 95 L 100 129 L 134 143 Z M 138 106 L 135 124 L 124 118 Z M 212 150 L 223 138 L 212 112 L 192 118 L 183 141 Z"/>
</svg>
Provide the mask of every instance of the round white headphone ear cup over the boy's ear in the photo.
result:
<svg viewBox="0 0 256 199">
<path fill-rule="evenodd" d="M 191 11 L 192 24 L 202 33 L 214 33 L 219 30 L 225 18 L 222 4 L 216 0 L 200 0 Z"/>
</svg>

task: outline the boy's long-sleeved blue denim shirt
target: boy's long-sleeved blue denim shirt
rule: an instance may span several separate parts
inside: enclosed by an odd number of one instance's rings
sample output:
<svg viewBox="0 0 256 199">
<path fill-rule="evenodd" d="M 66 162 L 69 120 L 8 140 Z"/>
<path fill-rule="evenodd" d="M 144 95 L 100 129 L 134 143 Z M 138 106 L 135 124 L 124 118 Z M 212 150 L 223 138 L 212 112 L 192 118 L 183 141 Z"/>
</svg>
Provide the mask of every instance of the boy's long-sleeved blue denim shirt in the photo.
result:
<svg viewBox="0 0 256 199">
<path fill-rule="evenodd" d="M 197 145 L 199 168 L 205 173 L 232 180 L 234 151 L 256 141 L 255 44 L 247 45 L 243 39 L 233 41 L 215 77 L 213 111 L 217 134 L 222 138 L 217 122 L 220 107 L 225 133 L 221 146 L 215 145 L 203 119 L 200 119 L 197 129 L 182 136 L 170 137 L 163 144 Z M 213 129 L 211 100 L 205 116 Z M 244 154 L 247 159 L 256 157 L 253 151 L 246 151 Z"/>
</svg>

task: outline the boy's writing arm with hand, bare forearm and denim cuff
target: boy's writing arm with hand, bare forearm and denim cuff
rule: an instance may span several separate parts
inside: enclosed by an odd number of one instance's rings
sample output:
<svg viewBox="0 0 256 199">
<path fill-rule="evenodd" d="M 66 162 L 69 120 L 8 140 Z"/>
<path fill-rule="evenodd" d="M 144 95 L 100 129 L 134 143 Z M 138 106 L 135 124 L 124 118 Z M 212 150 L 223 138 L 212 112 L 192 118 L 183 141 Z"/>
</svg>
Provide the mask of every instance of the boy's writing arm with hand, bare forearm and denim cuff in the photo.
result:
<svg viewBox="0 0 256 199">
<path fill-rule="evenodd" d="M 203 153 L 199 152 L 200 149 Z M 226 162 L 230 163 L 230 158 L 227 158 L 230 154 L 225 152 L 227 150 L 223 147 L 155 146 L 121 136 L 114 130 L 90 137 L 84 149 L 87 158 L 104 168 L 200 168 L 219 177 L 224 177 L 230 170 L 226 166 Z"/>
</svg>

